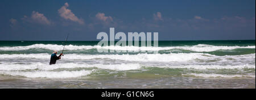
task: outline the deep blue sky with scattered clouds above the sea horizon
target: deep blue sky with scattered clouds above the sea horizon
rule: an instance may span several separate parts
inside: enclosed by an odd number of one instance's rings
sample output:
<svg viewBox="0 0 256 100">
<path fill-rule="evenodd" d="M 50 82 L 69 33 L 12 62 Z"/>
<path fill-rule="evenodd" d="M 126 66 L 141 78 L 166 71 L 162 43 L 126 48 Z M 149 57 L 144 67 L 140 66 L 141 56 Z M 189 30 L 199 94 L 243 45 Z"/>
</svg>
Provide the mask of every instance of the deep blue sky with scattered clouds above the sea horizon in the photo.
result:
<svg viewBox="0 0 256 100">
<path fill-rule="evenodd" d="M 255 40 L 255 0 L 1 0 L 0 40 L 97 40 L 158 32 L 159 40 Z"/>
</svg>

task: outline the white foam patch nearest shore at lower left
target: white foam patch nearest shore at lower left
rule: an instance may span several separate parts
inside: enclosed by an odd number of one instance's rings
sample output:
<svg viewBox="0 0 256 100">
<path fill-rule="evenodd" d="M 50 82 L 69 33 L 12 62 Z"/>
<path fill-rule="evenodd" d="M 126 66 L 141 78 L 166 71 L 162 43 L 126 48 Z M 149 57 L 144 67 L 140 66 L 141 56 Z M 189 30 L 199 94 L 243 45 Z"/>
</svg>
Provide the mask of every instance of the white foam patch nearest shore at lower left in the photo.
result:
<svg viewBox="0 0 256 100">
<path fill-rule="evenodd" d="M 0 71 L 0 74 L 6 74 L 10 76 L 23 76 L 28 78 L 72 78 L 87 76 L 92 73 L 90 70 L 80 70 L 80 71 L 35 71 L 35 72 L 21 72 L 21 71 Z"/>
</svg>

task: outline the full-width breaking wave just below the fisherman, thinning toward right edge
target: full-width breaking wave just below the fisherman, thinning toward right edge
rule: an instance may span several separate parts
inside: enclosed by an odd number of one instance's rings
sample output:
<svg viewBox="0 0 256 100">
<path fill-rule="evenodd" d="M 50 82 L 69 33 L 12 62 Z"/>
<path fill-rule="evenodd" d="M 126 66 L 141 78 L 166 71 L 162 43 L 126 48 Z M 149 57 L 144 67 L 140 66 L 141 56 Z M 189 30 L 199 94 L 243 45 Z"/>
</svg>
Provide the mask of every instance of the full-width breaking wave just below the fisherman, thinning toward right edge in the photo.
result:
<svg viewBox="0 0 256 100">
<path fill-rule="evenodd" d="M 42 62 L 34 62 L 32 64 L 0 64 L 0 70 L 6 71 L 27 71 L 27 70 L 66 70 L 66 69 L 76 69 L 76 68 L 98 68 L 98 69 L 109 69 L 109 70 L 139 70 L 151 67 L 157 68 L 179 68 L 179 69 L 255 69 L 255 65 L 144 65 L 138 63 L 128 63 L 128 64 L 77 64 L 77 63 L 64 63 L 48 65 Z"/>
</svg>

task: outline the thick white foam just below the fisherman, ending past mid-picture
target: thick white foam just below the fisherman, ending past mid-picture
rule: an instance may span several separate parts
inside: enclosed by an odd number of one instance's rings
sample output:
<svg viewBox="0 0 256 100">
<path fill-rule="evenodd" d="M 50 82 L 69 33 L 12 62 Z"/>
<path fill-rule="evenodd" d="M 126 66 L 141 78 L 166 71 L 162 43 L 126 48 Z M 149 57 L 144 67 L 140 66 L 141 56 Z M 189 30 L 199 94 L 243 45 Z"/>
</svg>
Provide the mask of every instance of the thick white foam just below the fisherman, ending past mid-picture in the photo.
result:
<svg viewBox="0 0 256 100">
<path fill-rule="evenodd" d="M 139 64 L 75 64 L 75 63 L 65 63 L 65 64 L 43 64 L 41 62 L 35 62 L 32 64 L 0 64 L 0 70 L 54 70 L 60 68 L 100 68 L 100 69 L 110 69 L 110 70 L 135 70 L 140 69 Z"/>
</svg>

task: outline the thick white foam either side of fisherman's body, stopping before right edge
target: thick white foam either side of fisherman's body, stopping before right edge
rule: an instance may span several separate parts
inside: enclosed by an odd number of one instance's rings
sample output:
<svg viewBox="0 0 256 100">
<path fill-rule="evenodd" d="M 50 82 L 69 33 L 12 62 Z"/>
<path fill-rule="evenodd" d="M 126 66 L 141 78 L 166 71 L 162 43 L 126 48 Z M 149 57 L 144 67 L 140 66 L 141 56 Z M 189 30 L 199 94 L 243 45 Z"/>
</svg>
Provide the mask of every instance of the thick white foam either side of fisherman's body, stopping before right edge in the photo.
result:
<svg viewBox="0 0 256 100">
<path fill-rule="evenodd" d="M 171 53 L 171 54 L 147 54 L 139 53 L 137 55 L 79 55 L 79 54 L 67 54 L 63 59 L 68 60 L 88 60 L 88 59 L 113 59 L 113 60 L 125 60 L 125 61 L 189 61 L 193 59 L 205 59 L 207 56 L 214 56 L 204 53 Z M 3 54 L 0 55 L 0 59 L 11 58 L 31 58 L 31 59 L 49 59 L 51 56 L 47 53 L 39 54 Z"/>
</svg>

